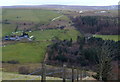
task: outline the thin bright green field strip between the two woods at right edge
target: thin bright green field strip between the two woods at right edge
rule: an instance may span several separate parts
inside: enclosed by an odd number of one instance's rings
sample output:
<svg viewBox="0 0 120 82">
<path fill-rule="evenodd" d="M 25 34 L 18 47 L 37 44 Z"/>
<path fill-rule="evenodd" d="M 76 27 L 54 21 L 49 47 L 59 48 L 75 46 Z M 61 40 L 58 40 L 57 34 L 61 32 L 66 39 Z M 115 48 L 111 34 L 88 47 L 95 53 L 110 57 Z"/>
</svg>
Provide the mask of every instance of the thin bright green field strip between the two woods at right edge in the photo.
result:
<svg viewBox="0 0 120 82">
<path fill-rule="evenodd" d="M 120 41 L 120 35 L 94 35 L 94 37 L 102 38 L 103 40 Z"/>
</svg>

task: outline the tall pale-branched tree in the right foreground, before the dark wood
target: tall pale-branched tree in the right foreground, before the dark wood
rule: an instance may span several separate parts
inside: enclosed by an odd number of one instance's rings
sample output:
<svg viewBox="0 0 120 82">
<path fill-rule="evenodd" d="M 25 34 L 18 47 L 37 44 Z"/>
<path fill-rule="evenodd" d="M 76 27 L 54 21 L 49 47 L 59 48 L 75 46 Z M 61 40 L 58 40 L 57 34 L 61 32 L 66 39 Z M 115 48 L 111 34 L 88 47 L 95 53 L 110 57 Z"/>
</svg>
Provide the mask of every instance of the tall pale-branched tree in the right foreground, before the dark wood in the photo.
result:
<svg viewBox="0 0 120 82">
<path fill-rule="evenodd" d="M 93 76 L 97 80 L 106 81 L 112 78 L 111 61 L 113 60 L 114 56 L 112 53 L 112 48 L 110 48 L 109 45 L 110 43 L 105 41 L 99 51 L 101 53 L 97 55 L 98 57 L 97 74 Z"/>
</svg>

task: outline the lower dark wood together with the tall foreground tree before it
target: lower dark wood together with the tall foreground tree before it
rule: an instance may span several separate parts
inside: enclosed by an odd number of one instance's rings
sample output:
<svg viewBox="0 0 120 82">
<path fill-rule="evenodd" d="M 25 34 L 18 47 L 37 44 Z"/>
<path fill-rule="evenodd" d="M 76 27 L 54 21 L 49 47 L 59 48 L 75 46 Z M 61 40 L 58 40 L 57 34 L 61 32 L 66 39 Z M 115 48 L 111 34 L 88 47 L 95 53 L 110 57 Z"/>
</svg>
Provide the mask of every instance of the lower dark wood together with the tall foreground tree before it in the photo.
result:
<svg viewBox="0 0 120 82">
<path fill-rule="evenodd" d="M 110 77 L 112 61 L 120 60 L 118 55 L 120 42 L 102 40 L 101 38 L 77 37 L 77 41 L 54 40 L 48 46 L 48 62 L 51 64 L 67 63 L 68 66 L 85 67 L 97 74 L 93 76 L 98 80 L 108 80 Z M 95 66 L 95 67 L 94 67 Z M 98 69 L 99 68 L 99 69 Z"/>
</svg>

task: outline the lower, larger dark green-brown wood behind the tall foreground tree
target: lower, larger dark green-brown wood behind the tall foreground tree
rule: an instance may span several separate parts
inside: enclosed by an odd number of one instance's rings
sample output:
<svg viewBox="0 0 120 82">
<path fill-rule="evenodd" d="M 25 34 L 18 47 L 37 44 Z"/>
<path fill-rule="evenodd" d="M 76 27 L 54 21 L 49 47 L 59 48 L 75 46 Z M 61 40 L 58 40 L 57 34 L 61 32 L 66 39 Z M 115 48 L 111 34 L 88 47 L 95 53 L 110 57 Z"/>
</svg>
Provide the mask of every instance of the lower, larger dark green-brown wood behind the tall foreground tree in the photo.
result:
<svg viewBox="0 0 120 82">
<path fill-rule="evenodd" d="M 87 43 L 85 43 L 85 38 L 78 36 L 77 42 L 73 43 L 72 40 L 56 40 L 48 48 L 48 57 L 50 61 L 78 66 L 96 66 L 101 63 L 99 61 L 101 59 L 101 54 L 105 55 L 103 58 L 106 58 L 109 54 L 109 56 L 112 57 L 110 59 L 111 61 L 116 60 L 116 56 L 118 57 L 118 42 L 110 40 L 104 41 L 101 38 L 91 37 L 87 40 Z M 109 59 L 105 60 L 105 67 L 103 67 L 104 73 L 110 70 L 105 70 L 105 68 L 110 68 L 109 62 Z M 106 76 L 107 73 L 104 75 Z"/>
</svg>

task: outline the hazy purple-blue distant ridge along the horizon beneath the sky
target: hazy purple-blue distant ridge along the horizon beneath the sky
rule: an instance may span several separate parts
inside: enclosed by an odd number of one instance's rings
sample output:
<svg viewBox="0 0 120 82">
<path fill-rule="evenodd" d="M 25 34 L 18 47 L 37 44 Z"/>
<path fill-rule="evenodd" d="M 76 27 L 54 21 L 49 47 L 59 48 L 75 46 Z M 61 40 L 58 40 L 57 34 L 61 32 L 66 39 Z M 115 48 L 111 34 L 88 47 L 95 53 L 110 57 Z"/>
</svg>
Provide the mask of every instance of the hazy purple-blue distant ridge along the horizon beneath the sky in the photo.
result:
<svg viewBox="0 0 120 82">
<path fill-rule="evenodd" d="M 54 9 L 72 9 L 72 10 L 117 10 L 117 9 L 120 9 L 120 5 L 112 5 L 112 6 L 17 5 L 17 6 L 2 6 L 2 8 L 54 8 Z"/>
</svg>

